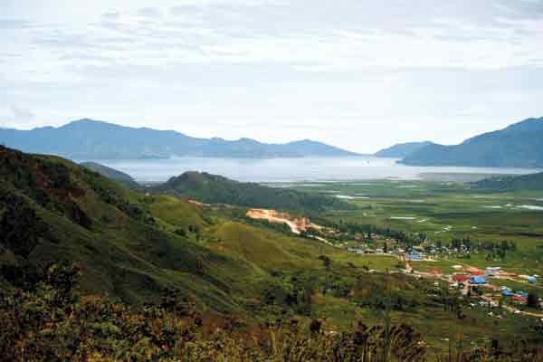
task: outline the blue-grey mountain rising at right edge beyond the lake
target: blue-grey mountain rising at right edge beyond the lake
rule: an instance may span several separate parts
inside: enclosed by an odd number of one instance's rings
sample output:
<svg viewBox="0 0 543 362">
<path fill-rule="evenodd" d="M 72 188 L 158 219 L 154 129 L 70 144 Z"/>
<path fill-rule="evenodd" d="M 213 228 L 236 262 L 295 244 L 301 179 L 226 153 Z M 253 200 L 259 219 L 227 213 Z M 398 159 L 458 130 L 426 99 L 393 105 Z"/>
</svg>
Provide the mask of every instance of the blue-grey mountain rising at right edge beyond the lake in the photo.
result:
<svg viewBox="0 0 543 362">
<path fill-rule="evenodd" d="M 470 138 L 456 146 L 428 145 L 402 161 L 419 166 L 543 167 L 543 118 Z"/>
</svg>

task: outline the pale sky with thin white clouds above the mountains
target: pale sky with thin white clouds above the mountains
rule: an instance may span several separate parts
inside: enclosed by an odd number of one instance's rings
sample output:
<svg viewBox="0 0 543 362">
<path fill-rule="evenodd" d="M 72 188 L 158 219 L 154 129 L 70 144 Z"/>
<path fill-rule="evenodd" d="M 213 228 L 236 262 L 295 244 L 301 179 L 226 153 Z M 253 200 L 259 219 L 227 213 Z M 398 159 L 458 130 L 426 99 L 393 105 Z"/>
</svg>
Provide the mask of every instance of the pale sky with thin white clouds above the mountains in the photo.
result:
<svg viewBox="0 0 543 362">
<path fill-rule="evenodd" d="M 0 127 L 370 153 L 543 116 L 543 0 L 1 0 Z"/>
</svg>

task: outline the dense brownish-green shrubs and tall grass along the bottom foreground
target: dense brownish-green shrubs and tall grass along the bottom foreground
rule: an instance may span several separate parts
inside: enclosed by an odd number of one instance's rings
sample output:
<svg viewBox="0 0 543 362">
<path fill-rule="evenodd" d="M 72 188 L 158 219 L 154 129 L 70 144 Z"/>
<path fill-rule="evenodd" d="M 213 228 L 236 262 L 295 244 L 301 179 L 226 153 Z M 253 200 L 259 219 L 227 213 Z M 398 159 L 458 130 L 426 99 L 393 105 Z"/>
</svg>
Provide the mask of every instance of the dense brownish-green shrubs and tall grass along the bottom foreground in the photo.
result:
<svg viewBox="0 0 543 362">
<path fill-rule="evenodd" d="M 461 342 L 448 355 L 435 356 L 412 327 L 391 323 L 390 307 L 382 325 L 358 322 L 346 332 L 329 330 L 319 319 L 309 325 L 280 319 L 250 326 L 204 315 L 178 291 L 165 291 L 157 302 L 139 307 L 80 297 L 73 291 L 77 275 L 72 267 L 52 264 L 39 280 L 0 294 L 0 361 L 543 360 L 543 349 L 521 343 L 467 351 Z"/>
</svg>

